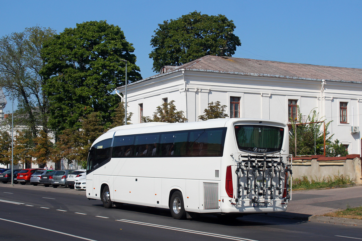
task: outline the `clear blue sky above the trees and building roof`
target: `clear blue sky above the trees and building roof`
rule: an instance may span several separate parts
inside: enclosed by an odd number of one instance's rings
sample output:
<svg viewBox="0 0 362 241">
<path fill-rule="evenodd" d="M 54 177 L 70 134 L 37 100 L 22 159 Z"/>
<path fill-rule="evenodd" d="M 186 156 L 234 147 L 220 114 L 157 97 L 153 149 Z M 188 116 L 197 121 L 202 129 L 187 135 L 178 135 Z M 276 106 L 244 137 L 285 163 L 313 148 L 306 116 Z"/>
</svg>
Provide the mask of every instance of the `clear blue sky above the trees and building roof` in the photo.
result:
<svg viewBox="0 0 362 241">
<path fill-rule="evenodd" d="M 362 68 L 360 0 L 0 0 L 0 4 L 0 36 L 35 25 L 58 33 L 87 21 L 118 25 L 135 47 L 143 78 L 155 74 L 148 54 L 157 24 L 194 10 L 234 21 L 241 46 L 233 57 Z M 5 111 L 11 112 L 10 99 Z"/>
</svg>

